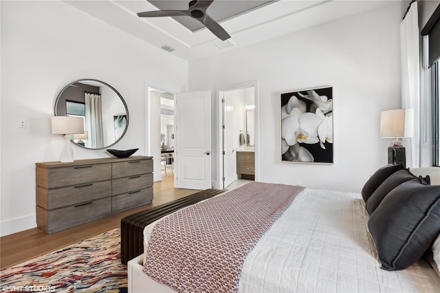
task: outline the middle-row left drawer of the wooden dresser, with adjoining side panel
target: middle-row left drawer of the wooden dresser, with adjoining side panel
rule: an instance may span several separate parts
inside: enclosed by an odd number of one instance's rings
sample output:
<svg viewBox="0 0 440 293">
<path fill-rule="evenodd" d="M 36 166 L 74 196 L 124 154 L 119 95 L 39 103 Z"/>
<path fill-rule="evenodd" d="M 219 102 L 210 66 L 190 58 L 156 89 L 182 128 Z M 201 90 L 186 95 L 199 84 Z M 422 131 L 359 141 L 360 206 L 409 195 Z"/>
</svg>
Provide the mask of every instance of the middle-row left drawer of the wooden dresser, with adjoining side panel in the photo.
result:
<svg viewBox="0 0 440 293">
<path fill-rule="evenodd" d="M 111 196 L 111 180 L 45 189 L 36 186 L 36 204 L 53 210 Z"/>
</svg>

